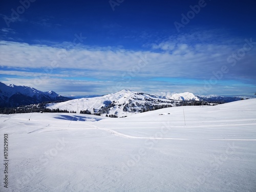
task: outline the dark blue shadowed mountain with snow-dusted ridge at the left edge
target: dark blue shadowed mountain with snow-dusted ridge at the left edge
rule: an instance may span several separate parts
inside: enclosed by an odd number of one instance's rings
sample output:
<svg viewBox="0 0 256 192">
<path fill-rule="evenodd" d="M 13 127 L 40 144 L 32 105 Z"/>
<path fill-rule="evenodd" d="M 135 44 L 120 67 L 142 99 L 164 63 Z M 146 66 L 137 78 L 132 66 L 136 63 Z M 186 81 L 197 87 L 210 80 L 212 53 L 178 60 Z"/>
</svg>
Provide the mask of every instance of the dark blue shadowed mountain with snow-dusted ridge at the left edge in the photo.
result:
<svg viewBox="0 0 256 192">
<path fill-rule="evenodd" d="M 69 98 L 62 97 L 54 91 L 42 92 L 27 86 L 6 85 L 0 82 L 0 107 L 66 100 Z"/>
</svg>

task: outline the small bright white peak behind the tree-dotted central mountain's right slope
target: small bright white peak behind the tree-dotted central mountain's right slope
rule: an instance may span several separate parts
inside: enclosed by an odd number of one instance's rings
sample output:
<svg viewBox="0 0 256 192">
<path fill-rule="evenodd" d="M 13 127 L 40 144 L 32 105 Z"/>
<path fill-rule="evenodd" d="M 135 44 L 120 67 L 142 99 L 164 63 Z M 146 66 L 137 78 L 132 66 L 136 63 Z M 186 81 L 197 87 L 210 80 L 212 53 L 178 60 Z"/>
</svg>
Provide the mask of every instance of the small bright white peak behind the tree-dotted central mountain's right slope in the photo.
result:
<svg viewBox="0 0 256 192">
<path fill-rule="evenodd" d="M 156 94 L 159 98 L 179 100 L 179 101 L 199 101 L 200 98 L 194 95 L 193 93 L 184 92 L 184 93 L 160 93 Z"/>
</svg>

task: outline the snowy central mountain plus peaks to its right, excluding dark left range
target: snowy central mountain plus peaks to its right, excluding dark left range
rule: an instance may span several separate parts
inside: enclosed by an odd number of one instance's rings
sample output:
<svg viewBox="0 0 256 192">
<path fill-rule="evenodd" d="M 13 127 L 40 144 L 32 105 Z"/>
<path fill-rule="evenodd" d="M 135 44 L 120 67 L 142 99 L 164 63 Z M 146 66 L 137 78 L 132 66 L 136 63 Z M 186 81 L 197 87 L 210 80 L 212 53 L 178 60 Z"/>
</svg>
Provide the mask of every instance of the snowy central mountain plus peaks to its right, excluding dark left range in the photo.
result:
<svg viewBox="0 0 256 192">
<path fill-rule="evenodd" d="M 97 114 L 111 117 L 125 117 L 145 111 L 180 105 L 199 105 L 241 100 L 241 97 L 196 96 L 193 93 L 146 94 L 122 90 L 100 97 L 73 99 L 60 103 L 48 103 L 47 108 L 67 110 L 76 113 Z"/>
</svg>

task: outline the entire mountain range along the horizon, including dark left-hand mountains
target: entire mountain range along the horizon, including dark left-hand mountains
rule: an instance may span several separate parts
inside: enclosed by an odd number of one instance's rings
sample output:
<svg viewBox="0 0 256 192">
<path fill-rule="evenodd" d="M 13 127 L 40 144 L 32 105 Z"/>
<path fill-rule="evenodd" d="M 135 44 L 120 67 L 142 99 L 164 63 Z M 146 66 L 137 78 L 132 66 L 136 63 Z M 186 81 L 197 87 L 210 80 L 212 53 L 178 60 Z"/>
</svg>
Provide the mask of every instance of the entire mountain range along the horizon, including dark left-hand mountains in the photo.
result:
<svg viewBox="0 0 256 192">
<path fill-rule="evenodd" d="M 158 93 L 146 94 L 130 90 L 122 90 L 104 96 L 88 95 L 86 97 L 63 97 L 54 91 L 42 92 L 27 86 L 15 86 L 0 82 L 0 108 L 16 107 L 20 105 L 37 104 L 47 101 L 66 101 L 49 104 L 51 109 L 68 111 L 86 111 L 85 113 L 111 114 L 126 116 L 148 110 L 155 110 L 167 106 L 179 106 L 182 102 L 201 101 L 210 103 L 225 103 L 241 99 L 255 98 L 246 96 L 217 96 L 217 95 L 194 95 L 193 93 Z M 183 103 L 184 104 L 184 103 Z M 87 111 L 88 110 L 88 111 Z"/>
</svg>

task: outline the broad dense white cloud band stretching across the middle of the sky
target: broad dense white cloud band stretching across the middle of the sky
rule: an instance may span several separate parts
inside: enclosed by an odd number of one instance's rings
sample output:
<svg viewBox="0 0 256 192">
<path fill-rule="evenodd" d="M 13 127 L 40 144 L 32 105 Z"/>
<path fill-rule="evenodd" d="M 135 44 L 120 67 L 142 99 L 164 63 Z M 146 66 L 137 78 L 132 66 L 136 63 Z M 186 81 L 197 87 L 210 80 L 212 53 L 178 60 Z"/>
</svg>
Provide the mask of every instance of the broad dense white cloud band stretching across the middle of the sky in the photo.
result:
<svg viewBox="0 0 256 192">
<path fill-rule="evenodd" d="M 162 45 L 166 45 L 167 42 Z M 168 49 L 162 46 L 163 49 Z M 66 50 L 60 45 L 29 45 L 19 42 L 0 41 L 0 65 L 12 68 L 74 69 L 89 71 L 89 76 L 110 78 L 123 73 L 139 73 L 140 76 L 207 78 L 213 71 L 229 65 L 228 55 L 239 46 L 214 44 L 176 44 L 171 52 L 132 51 L 115 48 L 92 48 L 73 46 Z M 147 63 L 139 67 L 140 57 L 147 57 Z M 246 56 L 241 61 L 246 61 Z M 250 61 L 246 61 L 251 65 Z M 241 68 L 241 66 L 236 66 Z M 243 66 L 244 68 L 244 66 Z M 201 69 L 203 74 L 198 69 Z M 72 74 L 71 74 L 72 76 Z"/>
</svg>

